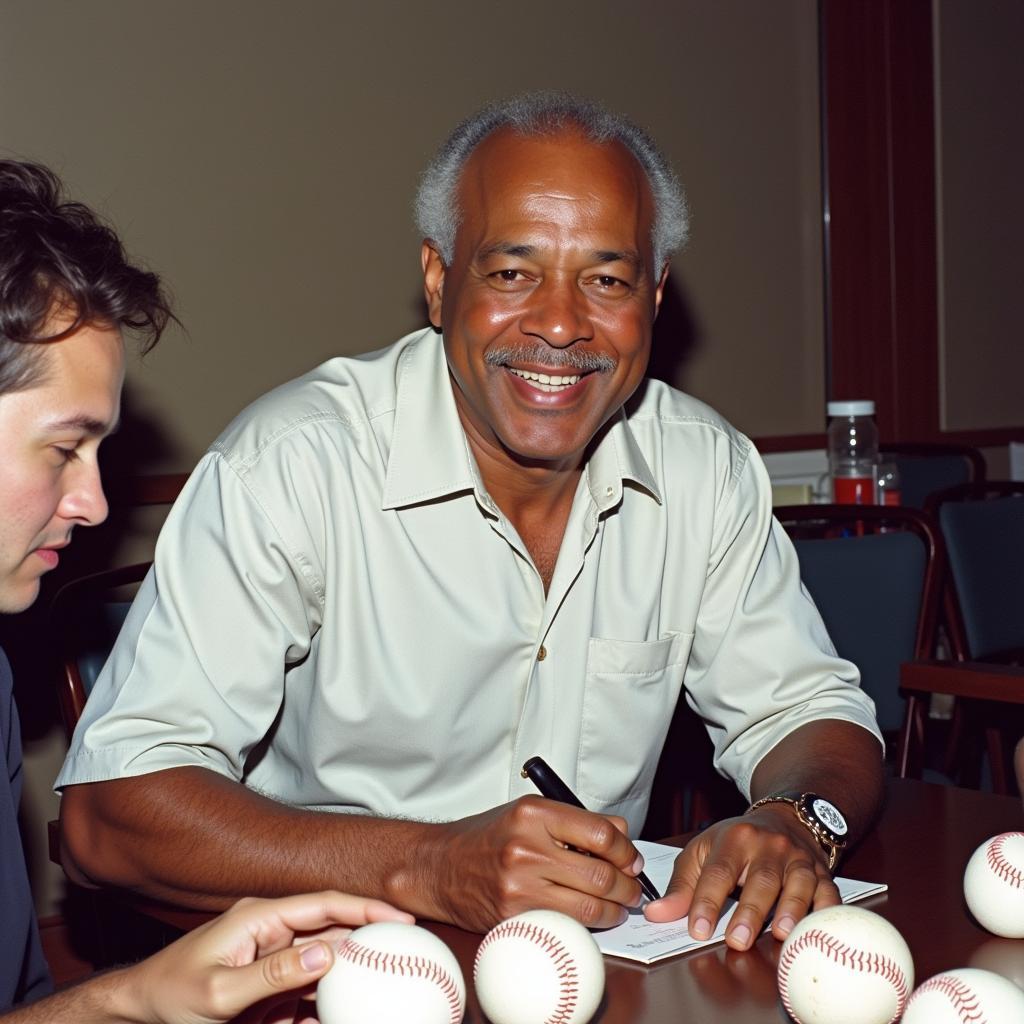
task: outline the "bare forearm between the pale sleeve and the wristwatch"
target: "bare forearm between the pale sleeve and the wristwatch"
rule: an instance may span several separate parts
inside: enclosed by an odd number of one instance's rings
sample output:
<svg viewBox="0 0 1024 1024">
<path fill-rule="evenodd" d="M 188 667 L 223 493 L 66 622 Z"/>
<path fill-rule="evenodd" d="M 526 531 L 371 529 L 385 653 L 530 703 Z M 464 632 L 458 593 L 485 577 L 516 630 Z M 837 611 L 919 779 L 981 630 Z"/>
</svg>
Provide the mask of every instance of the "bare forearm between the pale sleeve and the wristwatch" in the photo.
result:
<svg viewBox="0 0 1024 1024">
<path fill-rule="evenodd" d="M 777 743 L 754 772 L 751 798 L 818 793 L 843 811 L 856 842 L 879 812 L 883 779 L 878 739 L 859 725 L 829 719 L 802 726 Z"/>
</svg>

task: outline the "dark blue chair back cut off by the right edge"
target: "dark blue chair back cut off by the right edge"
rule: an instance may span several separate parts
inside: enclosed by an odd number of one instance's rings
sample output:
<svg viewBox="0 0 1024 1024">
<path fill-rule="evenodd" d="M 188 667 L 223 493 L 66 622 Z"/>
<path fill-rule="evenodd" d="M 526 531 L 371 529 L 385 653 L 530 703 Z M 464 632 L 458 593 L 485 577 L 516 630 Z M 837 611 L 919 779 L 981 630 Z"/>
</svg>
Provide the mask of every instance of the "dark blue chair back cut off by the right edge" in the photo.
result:
<svg viewBox="0 0 1024 1024">
<path fill-rule="evenodd" d="M 1024 659 L 1024 481 L 988 480 L 934 495 L 929 502 L 949 552 L 947 602 L 964 656 Z"/>
</svg>

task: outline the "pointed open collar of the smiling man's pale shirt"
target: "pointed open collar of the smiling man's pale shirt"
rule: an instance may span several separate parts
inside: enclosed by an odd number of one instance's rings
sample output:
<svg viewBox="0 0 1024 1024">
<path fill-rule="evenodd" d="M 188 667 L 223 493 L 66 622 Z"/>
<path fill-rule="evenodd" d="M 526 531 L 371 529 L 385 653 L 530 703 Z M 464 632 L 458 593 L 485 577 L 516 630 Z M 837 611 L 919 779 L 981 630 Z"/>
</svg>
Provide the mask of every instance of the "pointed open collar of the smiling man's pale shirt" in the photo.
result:
<svg viewBox="0 0 1024 1024">
<path fill-rule="evenodd" d="M 586 478 L 602 512 L 622 500 L 624 480 L 662 504 L 625 410 L 618 410 L 604 430 L 588 461 Z M 402 508 L 466 492 L 475 495 L 484 511 L 498 515 L 459 419 L 441 336 L 428 328 L 401 354 L 381 507 Z"/>
</svg>

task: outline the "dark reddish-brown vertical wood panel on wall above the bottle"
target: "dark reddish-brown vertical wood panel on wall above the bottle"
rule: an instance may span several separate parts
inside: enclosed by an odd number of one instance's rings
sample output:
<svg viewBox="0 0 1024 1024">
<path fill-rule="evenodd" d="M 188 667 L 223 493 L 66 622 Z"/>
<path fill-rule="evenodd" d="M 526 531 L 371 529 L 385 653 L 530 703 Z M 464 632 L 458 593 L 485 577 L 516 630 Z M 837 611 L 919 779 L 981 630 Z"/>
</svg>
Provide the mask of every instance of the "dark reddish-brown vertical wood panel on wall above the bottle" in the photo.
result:
<svg viewBox="0 0 1024 1024">
<path fill-rule="evenodd" d="M 883 439 L 938 429 L 929 0 L 822 0 L 828 389 Z"/>
</svg>

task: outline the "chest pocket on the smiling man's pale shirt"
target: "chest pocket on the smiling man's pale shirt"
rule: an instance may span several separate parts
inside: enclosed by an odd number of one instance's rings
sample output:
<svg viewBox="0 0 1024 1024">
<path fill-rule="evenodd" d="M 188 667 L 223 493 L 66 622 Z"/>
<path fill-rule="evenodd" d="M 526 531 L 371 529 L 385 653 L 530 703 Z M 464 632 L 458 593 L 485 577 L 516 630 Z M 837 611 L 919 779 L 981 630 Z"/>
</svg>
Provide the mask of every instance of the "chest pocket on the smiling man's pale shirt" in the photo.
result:
<svg viewBox="0 0 1024 1024">
<path fill-rule="evenodd" d="M 646 803 L 692 642 L 692 633 L 646 641 L 591 637 L 577 771 L 588 807 Z"/>
</svg>

